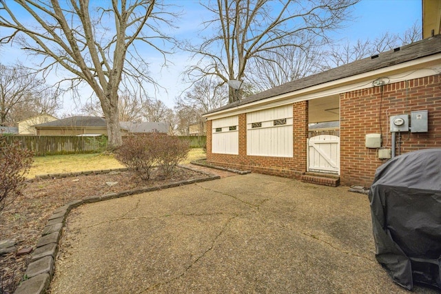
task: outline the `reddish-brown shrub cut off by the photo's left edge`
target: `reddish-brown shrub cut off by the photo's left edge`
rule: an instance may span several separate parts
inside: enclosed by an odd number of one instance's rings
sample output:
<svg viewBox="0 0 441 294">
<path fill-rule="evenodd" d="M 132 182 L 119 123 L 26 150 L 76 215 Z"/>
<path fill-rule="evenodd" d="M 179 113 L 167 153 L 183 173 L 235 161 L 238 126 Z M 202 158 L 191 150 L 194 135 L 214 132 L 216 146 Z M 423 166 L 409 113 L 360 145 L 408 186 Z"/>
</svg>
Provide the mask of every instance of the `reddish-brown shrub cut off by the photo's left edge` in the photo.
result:
<svg viewBox="0 0 441 294">
<path fill-rule="evenodd" d="M 21 148 L 18 140 L 8 144 L 0 137 L 0 212 L 21 195 L 32 156 L 32 151 Z"/>
</svg>

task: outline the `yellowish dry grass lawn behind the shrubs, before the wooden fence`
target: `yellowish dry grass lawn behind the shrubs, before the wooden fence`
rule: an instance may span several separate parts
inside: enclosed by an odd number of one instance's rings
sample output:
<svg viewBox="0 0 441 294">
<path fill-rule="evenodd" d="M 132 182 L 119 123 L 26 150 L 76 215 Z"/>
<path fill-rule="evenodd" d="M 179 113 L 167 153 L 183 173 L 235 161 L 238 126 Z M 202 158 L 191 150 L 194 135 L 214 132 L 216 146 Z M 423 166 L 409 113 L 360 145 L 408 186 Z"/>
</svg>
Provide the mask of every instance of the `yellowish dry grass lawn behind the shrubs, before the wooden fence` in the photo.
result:
<svg viewBox="0 0 441 294">
<path fill-rule="evenodd" d="M 202 148 L 192 148 L 183 164 L 192 160 L 205 158 Z M 99 169 L 119 169 L 124 167 L 114 158 L 107 154 L 71 154 L 54 156 L 37 156 L 34 158 L 26 178 L 34 178 L 41 174 L 61 174 L 75 171 L 93 171 Z"/>
</svg>

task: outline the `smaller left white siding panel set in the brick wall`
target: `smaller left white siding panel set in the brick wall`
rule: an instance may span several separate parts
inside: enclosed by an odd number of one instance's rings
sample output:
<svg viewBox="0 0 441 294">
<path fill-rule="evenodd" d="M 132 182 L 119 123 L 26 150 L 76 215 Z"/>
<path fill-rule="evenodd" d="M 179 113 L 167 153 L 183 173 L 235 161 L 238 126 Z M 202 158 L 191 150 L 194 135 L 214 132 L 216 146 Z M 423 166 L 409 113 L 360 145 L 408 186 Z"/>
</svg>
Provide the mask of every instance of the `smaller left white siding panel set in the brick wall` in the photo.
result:
<svg viewBox="0 0 441 294">
<path fill-rule="evenodd" d="M 230 131 L 229 127 L 236 126 Z M 221 132 L 216 129 L 221 128 Z M 239 119 L 238 116 L 219 118 L 212 122 L 212 153 L 239 154 Z"/>
</svg>

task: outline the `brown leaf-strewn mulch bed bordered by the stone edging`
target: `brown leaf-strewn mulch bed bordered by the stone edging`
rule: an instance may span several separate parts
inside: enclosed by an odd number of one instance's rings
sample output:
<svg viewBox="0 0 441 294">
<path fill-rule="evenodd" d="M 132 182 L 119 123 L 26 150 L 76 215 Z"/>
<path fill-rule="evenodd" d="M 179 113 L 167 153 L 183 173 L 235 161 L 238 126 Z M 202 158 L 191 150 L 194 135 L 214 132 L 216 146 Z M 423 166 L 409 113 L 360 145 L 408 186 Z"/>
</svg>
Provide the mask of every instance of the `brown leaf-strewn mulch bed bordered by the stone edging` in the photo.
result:
<svg viewBox="0 0 441 294">
<path fill-rule="evenodd" d="M 0 293 L 14 293 L 30 262 L 30 254 L 17 255 L 17 251 L 35 248 L 48 218 L 63 204 L 106 193 L 120 193 L 208 177 L 206 174 L 178 167 L 169 178 L 161 178 L 158 171 L 154 170 L 151 180 L 148 181 L 141 180 L 131 171 L 117 171 L 28 182 L 23 189 L 23 196 L 0 213 L 0 240 L 17 242 L 16 251 L 0 256 Z"/>
</svg>

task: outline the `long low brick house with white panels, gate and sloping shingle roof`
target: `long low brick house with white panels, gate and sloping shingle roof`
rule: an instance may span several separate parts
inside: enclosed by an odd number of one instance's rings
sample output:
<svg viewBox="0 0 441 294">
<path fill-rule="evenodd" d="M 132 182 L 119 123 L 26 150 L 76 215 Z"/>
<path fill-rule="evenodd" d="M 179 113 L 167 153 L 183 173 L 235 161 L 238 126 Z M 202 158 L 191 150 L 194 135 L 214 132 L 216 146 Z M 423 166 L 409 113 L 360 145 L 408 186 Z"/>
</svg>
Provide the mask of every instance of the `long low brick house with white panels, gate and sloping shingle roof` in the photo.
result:
<svg viewBox="0 0 441 294">
<path fill-rule="evenodd" d="M 204 115 L 207 162 L 369 187 L 394 153 L 441 147 L 440 73 L 438 34 L 225 105 Z M 329 121 L 340 137 L 308 138 Z"/>
</svg>

